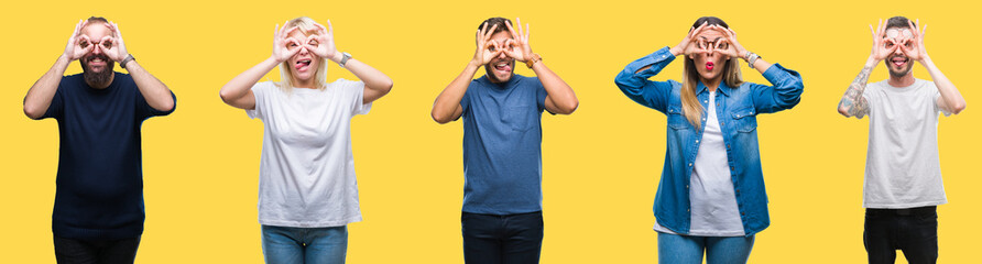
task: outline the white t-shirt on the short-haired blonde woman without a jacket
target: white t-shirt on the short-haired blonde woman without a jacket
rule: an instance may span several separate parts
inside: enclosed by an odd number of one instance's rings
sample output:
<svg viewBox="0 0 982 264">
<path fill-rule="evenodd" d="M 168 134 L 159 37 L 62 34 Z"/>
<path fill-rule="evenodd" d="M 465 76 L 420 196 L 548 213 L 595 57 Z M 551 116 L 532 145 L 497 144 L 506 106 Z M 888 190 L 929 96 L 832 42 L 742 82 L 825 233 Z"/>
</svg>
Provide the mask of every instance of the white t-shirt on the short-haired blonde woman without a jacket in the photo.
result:
<svg viewBox="0 0 982 264">
<path fill-rule="evenodd" d="M 364 82 L 338 79 L 327 88 L 273 82 L 252 87 L 263 121 L 259 166 L 259 222 L 294 228 L 339 227 L 361 221 L 351 152 L 351 118 L 365 114 Z"/>
</svg>

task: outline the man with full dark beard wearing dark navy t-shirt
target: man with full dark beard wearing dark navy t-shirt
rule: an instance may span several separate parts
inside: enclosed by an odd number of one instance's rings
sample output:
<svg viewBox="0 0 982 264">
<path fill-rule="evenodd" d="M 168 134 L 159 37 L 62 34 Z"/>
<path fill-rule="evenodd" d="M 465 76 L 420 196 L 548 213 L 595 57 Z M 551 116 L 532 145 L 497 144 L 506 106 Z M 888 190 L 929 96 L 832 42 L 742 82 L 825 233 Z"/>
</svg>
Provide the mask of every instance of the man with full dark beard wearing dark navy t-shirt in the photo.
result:
<svg viewBox="0 0 982 264">
<path fill-rule="evenodd" d="M 83 74 L 64 76 L 78 59 Z M 116 63 L 130 74 L 112 70 Z M 24 114 L 58 121 L 52 213 L 58 263 L 133 263 L 143 233 L 140 125 L 176 98 L 127 53 L 116 23 L 79 21 L 65 52 L 24 97 Z"/>
</svg>

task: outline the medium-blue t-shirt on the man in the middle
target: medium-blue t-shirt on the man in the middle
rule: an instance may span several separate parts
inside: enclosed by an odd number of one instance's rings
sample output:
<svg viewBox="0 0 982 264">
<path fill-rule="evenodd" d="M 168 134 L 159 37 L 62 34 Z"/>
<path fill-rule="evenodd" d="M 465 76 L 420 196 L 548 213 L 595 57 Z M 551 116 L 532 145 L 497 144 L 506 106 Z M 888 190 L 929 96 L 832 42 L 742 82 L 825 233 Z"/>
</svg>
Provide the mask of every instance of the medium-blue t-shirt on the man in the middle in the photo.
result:
<svg viewBox="0 0 982 264">
<path fill-rule="evenodd" d="M 463 108 L 463 211 L 512 215 L 542 210 L 542 111 L 538 78 L 472 80 Z"/>
</svg>

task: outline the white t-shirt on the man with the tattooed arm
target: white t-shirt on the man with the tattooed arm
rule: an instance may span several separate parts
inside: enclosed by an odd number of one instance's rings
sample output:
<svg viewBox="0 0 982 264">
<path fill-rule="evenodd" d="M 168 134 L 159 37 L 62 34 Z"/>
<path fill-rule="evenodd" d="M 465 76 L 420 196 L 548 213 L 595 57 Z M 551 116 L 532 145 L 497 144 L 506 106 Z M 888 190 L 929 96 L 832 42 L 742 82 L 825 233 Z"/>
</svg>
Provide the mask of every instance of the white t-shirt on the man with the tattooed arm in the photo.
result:
<svg viewBox="0 0 982 264">
<path fill-rule="evenodd" d="M 940 96 L 935 82 L 923 79 L 908 87 L 893 87 L 887 80 L 866 85 L 870 145 L 863 207 L 903 209 L 948 202 L 938 160 Z"/>
</svg>

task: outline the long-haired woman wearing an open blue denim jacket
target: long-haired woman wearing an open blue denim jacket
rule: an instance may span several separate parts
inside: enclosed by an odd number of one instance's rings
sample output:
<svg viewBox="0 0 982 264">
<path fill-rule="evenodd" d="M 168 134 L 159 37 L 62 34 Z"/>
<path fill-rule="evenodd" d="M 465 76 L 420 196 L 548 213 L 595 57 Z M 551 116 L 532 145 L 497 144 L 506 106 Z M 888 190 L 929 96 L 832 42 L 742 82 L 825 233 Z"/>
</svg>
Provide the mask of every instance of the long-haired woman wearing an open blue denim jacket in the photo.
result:
<svg viewBox="0 0 982 264">
<path fill-rule="evenodd" d="M 684 56 L 683 81 L 651 81 Z M 739 61 L 773 86 L 744 82 Z M 764 62 L 718 18 L 699 18 L 681 43 L 642 57 L 615 82 L 629 98 L 668 116 L 667 152 L 654 212 L 661 263 L 745 263 L 770 224 L 756 116 L 790 109 L 801 77 Z"/>
</svg>

